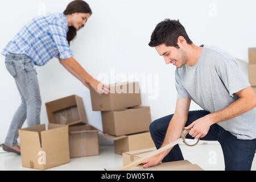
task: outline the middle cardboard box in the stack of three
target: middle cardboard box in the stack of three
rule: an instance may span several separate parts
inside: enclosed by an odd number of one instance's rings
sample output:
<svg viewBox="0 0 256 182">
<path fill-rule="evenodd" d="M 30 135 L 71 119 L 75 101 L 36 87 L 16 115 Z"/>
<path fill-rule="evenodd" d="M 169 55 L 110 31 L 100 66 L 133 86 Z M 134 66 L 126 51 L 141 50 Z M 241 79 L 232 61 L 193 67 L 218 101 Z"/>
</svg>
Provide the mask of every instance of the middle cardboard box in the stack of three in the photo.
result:
<svg viewBox="0 0 256 182">
<path fill-rule="evenodd" d="M 103 133 L 115 136 L 149 131 L 150 107 L 137 106 L 116 111 L 102 111 Z"/>
</svg>

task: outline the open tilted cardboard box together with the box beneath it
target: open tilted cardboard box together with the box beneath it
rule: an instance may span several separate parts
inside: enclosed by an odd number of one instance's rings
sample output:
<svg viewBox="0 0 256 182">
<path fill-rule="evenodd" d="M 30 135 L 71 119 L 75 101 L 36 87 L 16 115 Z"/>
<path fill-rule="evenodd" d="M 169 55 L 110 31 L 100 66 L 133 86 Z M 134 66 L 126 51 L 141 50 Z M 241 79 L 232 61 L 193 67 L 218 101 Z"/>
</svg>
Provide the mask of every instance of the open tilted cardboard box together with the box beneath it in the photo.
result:
<svg viewBox="0 0 256 182">
<path fill-rule="evenodd" d="M 98 130 L 88 124 L 82 98 L 76 95 L 46 103 L 49 123 L 68 125 L 70 158 L 98 155 Z"/>
</svg>

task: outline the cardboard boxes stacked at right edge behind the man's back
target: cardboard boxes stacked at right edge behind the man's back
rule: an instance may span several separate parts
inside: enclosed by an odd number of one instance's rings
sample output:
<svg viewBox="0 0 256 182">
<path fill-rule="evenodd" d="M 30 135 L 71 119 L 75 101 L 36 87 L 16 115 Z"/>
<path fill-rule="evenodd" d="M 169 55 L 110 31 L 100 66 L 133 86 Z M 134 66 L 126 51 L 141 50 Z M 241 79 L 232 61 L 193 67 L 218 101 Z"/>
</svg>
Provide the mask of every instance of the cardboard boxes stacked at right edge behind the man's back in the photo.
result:
<svg viewBox="0 0 256 182">
<path fill-rule="evenodd" d="M 256 48 L 248 49 L 249 55 L 249 65 L 248 65 L 248 73 L 249 73 L 249 82 L 251 87 L 256 94 Z"/>
</svg>

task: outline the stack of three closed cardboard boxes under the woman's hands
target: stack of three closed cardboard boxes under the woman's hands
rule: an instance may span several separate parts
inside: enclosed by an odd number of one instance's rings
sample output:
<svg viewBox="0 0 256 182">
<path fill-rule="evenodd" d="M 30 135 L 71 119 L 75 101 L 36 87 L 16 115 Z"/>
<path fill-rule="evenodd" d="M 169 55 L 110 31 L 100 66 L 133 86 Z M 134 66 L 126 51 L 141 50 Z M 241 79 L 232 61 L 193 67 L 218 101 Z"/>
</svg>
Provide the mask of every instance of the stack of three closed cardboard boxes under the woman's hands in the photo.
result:
<svg viewBox="0 0 256 182">
<path fill-rule="evenodd" d="M 112 84 L 108 95 L 90 89 L 90 96 L 92 109 L 101 111 L 104 137 L 114 140 L 116 154 L 155 146 L 148 132 L 150 107 L 140 106 L 138 82 Z"/>
</svg>

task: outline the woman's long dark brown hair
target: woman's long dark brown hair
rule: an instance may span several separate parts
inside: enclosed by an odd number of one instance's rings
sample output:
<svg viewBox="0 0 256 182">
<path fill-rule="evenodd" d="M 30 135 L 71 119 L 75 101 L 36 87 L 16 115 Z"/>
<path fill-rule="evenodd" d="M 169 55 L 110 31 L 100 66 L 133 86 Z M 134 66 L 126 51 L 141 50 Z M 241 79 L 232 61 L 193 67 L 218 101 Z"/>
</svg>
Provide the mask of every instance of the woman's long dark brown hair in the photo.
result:
<svg viewBox="0 0 256 182">
<path fill-rule="evenodd" d="M 92 15 L 92 10 L 90 9 L 90 6 L 88 5 L 88 3 L 86 3 L 85 1 L 75 0 L 68 4 L 67 8 L 63 13 L 64 15 L 69 15 L 73 13 L 89 13 L 90 15 Z M 71 40 L 73 40 L 76 37 L 77 30 L 73 26 L 68 28 L 69 30 L 67 33 L 67 40 L 68 40 L 68 44 L 70 44 Z"/>
</svg>

